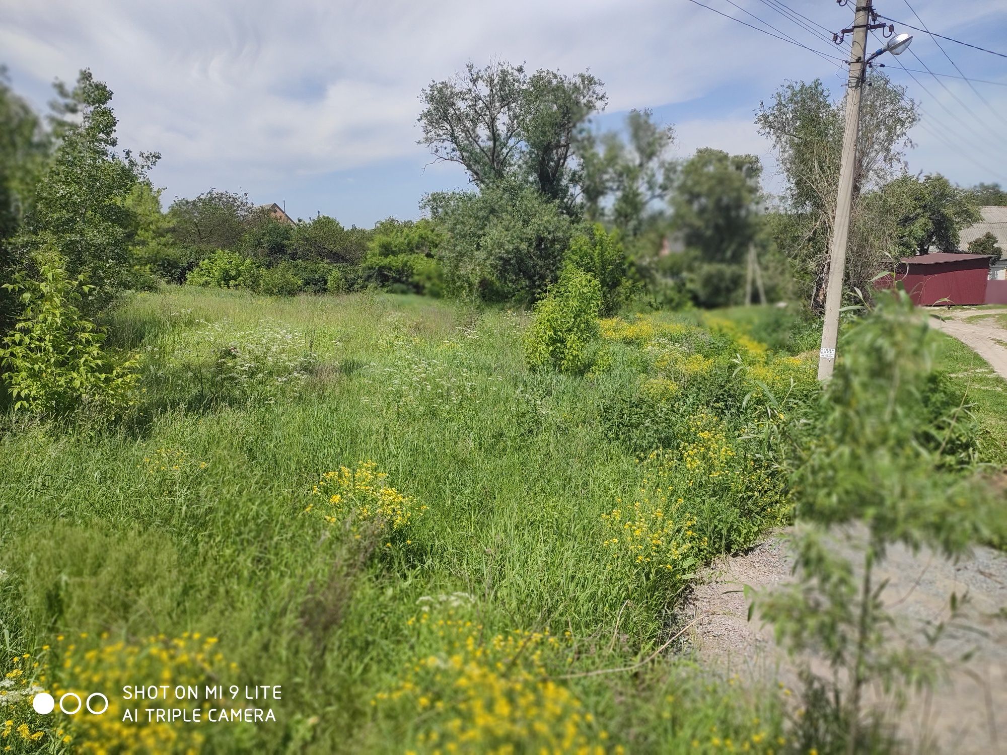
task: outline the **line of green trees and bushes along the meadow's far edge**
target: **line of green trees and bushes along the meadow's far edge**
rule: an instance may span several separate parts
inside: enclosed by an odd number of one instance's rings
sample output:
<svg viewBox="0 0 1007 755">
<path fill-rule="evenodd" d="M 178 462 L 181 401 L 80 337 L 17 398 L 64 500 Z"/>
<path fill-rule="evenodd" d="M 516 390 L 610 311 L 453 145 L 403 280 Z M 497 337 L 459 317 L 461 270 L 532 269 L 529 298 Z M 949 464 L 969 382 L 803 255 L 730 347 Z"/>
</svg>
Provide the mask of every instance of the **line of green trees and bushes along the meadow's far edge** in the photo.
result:
<svg viewBox="0 0 1007 755">
<path fill-rule="evenodd" d="M 613 312 L 737 303 L 754 256 L 767 300 L 822 303 L 844 106 L 820 81 L 786 83 L 757 109 L 784 179 L 770 196 L 756 156 L 679 158 L 674 129 L 650 111 L 599 130 L 606 96 L 588 72 L 469 64 L 423 89 L 418 122 L 420 143 L 462 166 L 470 187 L 423 197 L 420 220 L 373 229 L 320 214 L 290 223 L 217 189 L 165 210 L 148 177 L 160 155 L 119 146 L 111 101 L 83 70 L 40 116 L 0 76 L 5 370 L 24 367 L 12 360 L 31 352 L 32 333 L 44 341 L 32 318 L 46 307 L 73 307 L 83 333 L 122 292 L 164 283 L 272 295 L 381 287 L 531 306 L 575 268 Z M 1007 193 L 909 173 L 918 108 L 882 73 L 863 112 L 848 283 L 868 293 L 899 256 L 957 251 L 977 206 Z M 1000 254 L 994 239 L 973 251 Z"/>
</svg>

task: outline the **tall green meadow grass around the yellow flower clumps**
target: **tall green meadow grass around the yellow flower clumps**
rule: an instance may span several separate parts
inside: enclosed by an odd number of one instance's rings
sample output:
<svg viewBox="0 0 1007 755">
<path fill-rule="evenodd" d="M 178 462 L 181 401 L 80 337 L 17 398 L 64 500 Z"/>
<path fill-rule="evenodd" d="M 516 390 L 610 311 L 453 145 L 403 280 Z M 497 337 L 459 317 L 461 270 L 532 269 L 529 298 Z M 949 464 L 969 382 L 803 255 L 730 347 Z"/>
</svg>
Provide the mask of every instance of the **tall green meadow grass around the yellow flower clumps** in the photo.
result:
<svg viewBox="0 0 1007 755">
<path fill-rule="evenodd" d="M 266 319 L 300 331 L 313 354 L 298 395 L 268 405 L 201 399 L 197 372 L 213 358 L 204 323 L 251 332 Z M 214 751 L 433 750 L 430 733 L 453 736 L 457 714 L 382 696 L 401 688 L 417 658 L 447 652 L 436 632 L 418 632 L 418 617 L 450 615 L 478 627 L 468 630 L 476 643 L 516 630 L 560 638 L 531 665 L 519 642 L 499 650 L 506 671 L 472 673 L 490 702 L 517 694 L 509 680 L 518 669 L 533 687 L 553 678 L 535 689 L 575 702 L 574 744 L 667 752 L 733 738 L 778 749 L 773 696 L 724 697 L 715 678 L 699 681 L 667 650 L 655 655 L 675 632 L 689 570 L 653 579 L 608 545 L 604 515 L 639 497 L 655 472 L 613 426 L 617 412 L 599 419 L 614 397 L 641 390 L 652 368 L 642 349 L 612 339 L 607 367 L 587 379 L 535 374 L 523 363 L 524 320 L 409 296 L 139 296 L 109 324 L 117 345 L 145 356 L 146 413 L 116 432 L 18 427 L 0 439 L 4 648 L 45 657 L 54 650 L 42 646 L 60 634 L 85 632 L 78 641 L 100 647 L 200 632 L 240 669 L 229 684 L 283 686 L 276 725 L 208 728 Z M 695 334 L 711 354 L 732 343 Z M 730 375 L 738 365 L 721 351 L 710 363 Z M 733 407 L 718 431 L 731 438 L 747 422 L 736 380 L 707 407 Z M 639 411 L 658 412 L 655 401 Z M 368 460 L 426 506 L 400 537 L 376 536 L 371 551 L 305 513 L 324 473 Z M 693 506 L 704 517 L 697 530 L 738 520 L 743 501 L 721 489 Z M 718 548 L 742 547 L 778 520 L 776 509 L 764 519 L 745 510 L 744 530 L 724 530 Z M 136 680 L 145 683 L 156 684 Z M 435 691 L 449 713 L 474 705 L 452 689 Z M 469 745 L 488 749 L 490 734 Z M 80 749 L 85 735 L 75 736 L 66 747 Z"/>
</svg>

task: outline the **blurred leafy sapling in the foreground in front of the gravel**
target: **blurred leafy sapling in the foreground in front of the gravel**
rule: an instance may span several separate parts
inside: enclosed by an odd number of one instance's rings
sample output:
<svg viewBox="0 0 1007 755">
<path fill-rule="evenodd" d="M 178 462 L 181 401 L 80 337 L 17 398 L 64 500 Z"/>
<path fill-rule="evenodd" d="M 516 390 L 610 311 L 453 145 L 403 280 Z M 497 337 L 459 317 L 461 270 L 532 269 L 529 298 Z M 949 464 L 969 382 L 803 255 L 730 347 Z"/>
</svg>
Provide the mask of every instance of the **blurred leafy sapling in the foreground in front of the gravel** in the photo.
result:
<svg viewBox="0 0 1007 755">
<path fill-rule="evenodd" d="M 794 536 L 799 581 L 760 597 L 753 608 L 792 650 L 824 655 L 834 675 L 823 699 L 843 722 L 830 741 L 837 751 L 853 753 L 890 745 L 863 725 L 865 688 L 879 683 L 890 693 L 898 683 L 929 684 L 941 666 L 934 645 L 948 625 L 927 630 L 922 643 L 893 641 L 886 581 L 876 577 L 887 549 L 900 543 L 913 552 L 925 546 L 960 557 L 989 537 L 998 506 L 969 474 L 974 430 L 968 407 L 950 390 L 934 391 L 947 384 L 933 367 L 933 339 L 905 293 L 880 297 L 843 345 L 844 358 L 807 423 L 792 472 L 801 524 Z M 841 540 L 862 563 L 842 555 Z M 959 603 L 952 595 L 953 618 Z"/>
</svg>

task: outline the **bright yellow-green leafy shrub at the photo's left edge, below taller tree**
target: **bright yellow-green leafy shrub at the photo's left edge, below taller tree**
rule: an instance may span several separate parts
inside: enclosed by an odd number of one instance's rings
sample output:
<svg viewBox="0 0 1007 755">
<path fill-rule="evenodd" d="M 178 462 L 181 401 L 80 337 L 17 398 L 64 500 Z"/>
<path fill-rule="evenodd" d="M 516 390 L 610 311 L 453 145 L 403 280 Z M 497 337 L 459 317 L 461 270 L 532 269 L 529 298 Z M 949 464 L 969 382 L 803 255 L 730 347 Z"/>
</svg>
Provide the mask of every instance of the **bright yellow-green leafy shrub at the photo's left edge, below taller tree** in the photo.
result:
<svg viewBox="0 0 1007 755">
<path fill-rule="evenodd" d="M 106 330 L 81 314 L 84 278 L 70 279 L 54 258 L 38 280 L 18 275 L 4 288 L 23 310 L 0 348 L 3 380 L 15 410 L 58 416 L 81 409 L 112 418 L 136 402 L 139 362 L 102 348 Z"/>
</svg>

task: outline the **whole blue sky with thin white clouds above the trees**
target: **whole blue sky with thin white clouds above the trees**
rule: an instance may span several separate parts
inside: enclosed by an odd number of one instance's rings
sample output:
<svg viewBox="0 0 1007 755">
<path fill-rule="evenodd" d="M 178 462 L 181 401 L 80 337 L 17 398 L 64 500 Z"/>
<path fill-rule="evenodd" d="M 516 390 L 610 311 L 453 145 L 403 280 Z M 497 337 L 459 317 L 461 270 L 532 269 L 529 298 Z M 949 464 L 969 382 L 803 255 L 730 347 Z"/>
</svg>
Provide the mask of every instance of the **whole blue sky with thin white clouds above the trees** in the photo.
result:
<svg viewBox="0 0 1007 755">
<path fill-rule="evenodd" d="M 846 56 L 825 29 L 851 25 L 854 0 L 699 2 Z M 1007 0 L 875 7 L 1007 52 Z M 787 8 L 811 30 L 784 17 Z M 905 67 L 959 76 L 957 64 L 1007 85 L 1007 57 L 939 40 L 942 51 L 905 30 L 918 55 L 903 53 Z M 1007 186 L 1007 86 L 926 72 L 914 81 L 884 57 L 921 105 L 910 170 Z M 161 153 L 151 178 L 165 203 L 212 187 L 284 204 L 294 217 L 321 212 L 362 226 L 418 217 L 424 193 L 467 187 L 459 167 L 432 163 L 417 144 L 420 92 L 468 61 L 493 60 L 589 69 L 608 95 L 597 128 L 650 108 L 674 125 L 677 156 L 703 146 L 756 154 L 768 190 L 782 183 L 753 122 L 760 101 L 787 80 L 821 78 L 836 97 L 845 83 L 838 61 L 689 0 L 0 0 L 0 64 L 15 91 L 44 111 L 53 80 L 90 67 L 115 93 L 120 145 Z"/>
</svg>

